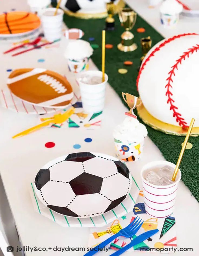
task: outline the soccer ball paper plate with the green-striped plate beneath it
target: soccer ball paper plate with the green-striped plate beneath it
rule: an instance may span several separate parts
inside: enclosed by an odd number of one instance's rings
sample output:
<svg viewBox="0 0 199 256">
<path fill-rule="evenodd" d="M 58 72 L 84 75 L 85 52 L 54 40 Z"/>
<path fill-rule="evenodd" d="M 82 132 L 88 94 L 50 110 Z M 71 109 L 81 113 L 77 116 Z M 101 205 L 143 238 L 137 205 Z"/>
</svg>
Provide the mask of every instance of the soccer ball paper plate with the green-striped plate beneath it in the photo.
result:
<svg viewBox="0 0 199 256">
<path fill-rule="evenodd" d="M 115 157 L 72 153 L 39 170 L 31 197 L 39 213 L 62 226 L 104 226 L 133 209 L 139 189 L 132 180 Z"/>
</svg>

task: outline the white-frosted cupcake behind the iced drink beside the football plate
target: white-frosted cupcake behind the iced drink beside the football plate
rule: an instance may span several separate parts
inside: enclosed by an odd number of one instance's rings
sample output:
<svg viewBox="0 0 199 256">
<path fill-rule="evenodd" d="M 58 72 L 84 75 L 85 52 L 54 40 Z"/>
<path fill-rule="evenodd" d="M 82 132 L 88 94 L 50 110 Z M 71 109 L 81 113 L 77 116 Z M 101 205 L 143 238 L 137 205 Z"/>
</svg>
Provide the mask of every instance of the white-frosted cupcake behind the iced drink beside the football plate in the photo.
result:
<svg viewBox="0 0 199 256">
<path fill-rule="evenodd" d="M 93 49 L 87 41 L 69 40 L 64 53 L 69 70 L 75 73 L 85 70 L 92 53 Z"/>
</svg>

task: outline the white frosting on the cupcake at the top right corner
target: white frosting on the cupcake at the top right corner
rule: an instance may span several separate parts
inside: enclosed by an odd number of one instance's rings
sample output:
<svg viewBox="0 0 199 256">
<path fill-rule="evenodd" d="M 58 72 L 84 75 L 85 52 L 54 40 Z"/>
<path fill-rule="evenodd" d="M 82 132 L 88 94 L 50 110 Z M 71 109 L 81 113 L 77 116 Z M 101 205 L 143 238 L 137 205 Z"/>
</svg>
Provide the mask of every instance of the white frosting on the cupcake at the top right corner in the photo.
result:
<svg viewBox="0 0 199 256">
<path fill-rule="evenodd" d="M 165 0 L 160 6 L 160 12 L 165 14 L 177 14 L 183 11 L 183 6 L 176 0 Z"/>
</svg>

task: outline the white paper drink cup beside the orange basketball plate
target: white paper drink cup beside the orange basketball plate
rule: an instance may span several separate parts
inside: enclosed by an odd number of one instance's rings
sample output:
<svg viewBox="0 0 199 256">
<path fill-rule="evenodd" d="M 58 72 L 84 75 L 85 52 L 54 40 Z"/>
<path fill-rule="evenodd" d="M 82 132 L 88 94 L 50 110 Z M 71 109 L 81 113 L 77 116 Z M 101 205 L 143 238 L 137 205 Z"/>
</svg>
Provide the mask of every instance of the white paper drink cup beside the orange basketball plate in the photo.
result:
<svg viewBox="0 0 199 256">
<path fill-rule="evenodd" d="M 41 22 L 44 29 L 44 36 L 48 41 L 54 41 L 61 38 L 62 21 L 64 11 L 58 9 L 57 15 L 54 15 L 56 8 L 46 8 L 42 11 Z"/>
</svg>

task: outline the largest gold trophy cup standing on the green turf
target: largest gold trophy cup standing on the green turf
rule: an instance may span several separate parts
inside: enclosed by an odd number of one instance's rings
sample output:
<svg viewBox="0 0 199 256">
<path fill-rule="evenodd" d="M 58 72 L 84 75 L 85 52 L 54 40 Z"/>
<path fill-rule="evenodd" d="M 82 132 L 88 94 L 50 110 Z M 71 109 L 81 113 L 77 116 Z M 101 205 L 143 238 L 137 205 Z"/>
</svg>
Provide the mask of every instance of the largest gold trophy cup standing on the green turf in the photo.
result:
<svg viewBox="0 0 199 256">
<path fill-rule="evenodd" d="M 133 43 L 134 34 L 130 32 L 135 25 L 137 13 L 129 7 L 125 7 L 118 15 L 120 22 L 126 31 L 121 34 L 122 41 L 117 48 L 122 52 L 132 52 L 138 47 L 136 43 Z"/>
</svg>

